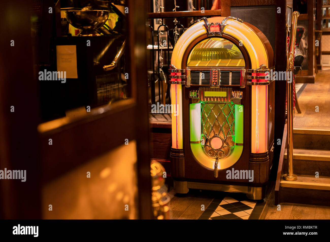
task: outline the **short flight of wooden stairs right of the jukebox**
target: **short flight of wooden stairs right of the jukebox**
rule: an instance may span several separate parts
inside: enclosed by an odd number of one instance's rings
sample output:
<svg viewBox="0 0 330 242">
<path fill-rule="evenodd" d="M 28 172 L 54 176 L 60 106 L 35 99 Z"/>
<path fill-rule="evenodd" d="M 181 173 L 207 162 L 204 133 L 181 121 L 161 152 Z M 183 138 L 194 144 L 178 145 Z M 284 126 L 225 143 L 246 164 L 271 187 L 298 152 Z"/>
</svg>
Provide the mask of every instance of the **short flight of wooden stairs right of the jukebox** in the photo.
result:
<svg viewBox="0 0 330 242">
<path fill-rule="evenodd" d="M 284 135 L 286 131 L 283 134 L 283 140 L 286 140 Z M 275 205 L 289 202 L 330 206 L 330 129 L 293 129 L 293 172 L 298 176 L 296 181 L 286 181 L 282 177 L 287 173 L 285 144 L 281 149 L 283 161 L 280 158 Z"/>
</svg>

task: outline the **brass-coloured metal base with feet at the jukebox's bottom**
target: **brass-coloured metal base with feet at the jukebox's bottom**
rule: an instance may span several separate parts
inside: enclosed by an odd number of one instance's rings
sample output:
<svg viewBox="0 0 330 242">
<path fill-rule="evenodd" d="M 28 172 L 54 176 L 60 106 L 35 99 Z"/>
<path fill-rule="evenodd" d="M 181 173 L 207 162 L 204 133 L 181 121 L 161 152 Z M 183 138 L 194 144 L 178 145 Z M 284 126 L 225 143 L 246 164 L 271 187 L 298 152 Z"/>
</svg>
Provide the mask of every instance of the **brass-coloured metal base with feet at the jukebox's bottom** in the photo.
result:
<svg viewBox="0 0 330 242">
<path fill-rule="evenodd" d="M 174 189 L 177 193 L 188 193 L 189 189 L 212 190 L 221 192 L 246 193 L 248 199 L 260 200 L 266 196 L 266 184 L 261 187 L 203 183 L 194 181 L 176 181 L 174 180 Z"/>
</svg>

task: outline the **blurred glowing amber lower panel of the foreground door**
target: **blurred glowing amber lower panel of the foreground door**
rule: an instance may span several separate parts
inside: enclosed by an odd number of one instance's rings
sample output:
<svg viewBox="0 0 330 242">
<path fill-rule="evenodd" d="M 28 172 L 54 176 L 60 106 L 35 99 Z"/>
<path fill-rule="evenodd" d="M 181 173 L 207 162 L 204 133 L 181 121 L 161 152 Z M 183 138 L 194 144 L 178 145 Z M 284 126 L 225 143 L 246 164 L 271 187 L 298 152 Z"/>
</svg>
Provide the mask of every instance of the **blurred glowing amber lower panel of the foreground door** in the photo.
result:
<svg viewBox="0 0 330 242">
<path fill-rule="evenodd" d="M 43 219 L 137 219 L 136 161 L 130 141 L 51 181 L 43 187 Z"/>
</svg>

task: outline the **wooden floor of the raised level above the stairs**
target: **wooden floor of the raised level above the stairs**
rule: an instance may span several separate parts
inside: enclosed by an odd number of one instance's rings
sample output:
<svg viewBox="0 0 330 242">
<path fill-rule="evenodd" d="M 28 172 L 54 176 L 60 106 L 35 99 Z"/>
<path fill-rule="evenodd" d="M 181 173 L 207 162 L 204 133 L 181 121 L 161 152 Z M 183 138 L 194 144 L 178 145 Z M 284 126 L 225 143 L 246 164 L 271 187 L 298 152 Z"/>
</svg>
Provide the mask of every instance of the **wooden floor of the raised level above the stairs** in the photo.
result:
<svg viewBox="0 0 330 242">
<path fill-rule="evenodd" d="M 320 70 L 315 83 L 307 84 L 298 101 L 301 114 L 295 112 L 294 128 L 330 129 L 330 70 Z"/>
</svg>

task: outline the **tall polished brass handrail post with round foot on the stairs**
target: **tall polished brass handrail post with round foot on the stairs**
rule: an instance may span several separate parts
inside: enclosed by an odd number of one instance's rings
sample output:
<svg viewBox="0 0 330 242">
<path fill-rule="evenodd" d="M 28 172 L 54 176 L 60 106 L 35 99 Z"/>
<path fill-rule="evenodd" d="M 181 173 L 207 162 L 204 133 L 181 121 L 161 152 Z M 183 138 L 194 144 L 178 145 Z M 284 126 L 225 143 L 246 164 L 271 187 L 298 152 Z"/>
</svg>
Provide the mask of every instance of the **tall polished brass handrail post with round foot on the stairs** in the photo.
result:
<svg viewBox="0 0 330 242">
<path fill-rule="evenodd" d="M 292 13 L 292 21 L 290 28 L 289 49 L 286 62 L 286 85 L 287 85 L 287 164 L 288 174 L 284 174 L 283 178 L 287 181 L 297 180 L 297 175 L 293 174 L 293 60 L 294 47 L 296 41 L 297 19 L 299 13 Z M 283 142 L 283 141 L 282 141 Z"/>
</svg>

